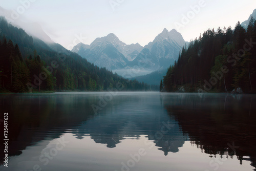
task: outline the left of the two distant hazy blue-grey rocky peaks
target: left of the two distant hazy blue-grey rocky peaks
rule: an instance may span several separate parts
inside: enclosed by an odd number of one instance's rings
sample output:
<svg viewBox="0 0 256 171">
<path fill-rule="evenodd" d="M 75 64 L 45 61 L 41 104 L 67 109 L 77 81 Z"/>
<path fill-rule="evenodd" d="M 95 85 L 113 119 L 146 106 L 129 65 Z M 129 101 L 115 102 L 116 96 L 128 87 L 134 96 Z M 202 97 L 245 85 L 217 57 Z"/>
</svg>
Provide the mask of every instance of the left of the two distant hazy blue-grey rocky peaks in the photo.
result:
<svg viewBox="0 0 256 171">
<path fill-rule="evenodd" d="M 129 61 L 143 49 L 139 44 L 126 45 L 111 33 L 105 37 L 96 38 L 91 45 L 78 44 L 73 52 L 80 54 L 88 61 L 109 70 L 124 68 Z"/>
</svg>

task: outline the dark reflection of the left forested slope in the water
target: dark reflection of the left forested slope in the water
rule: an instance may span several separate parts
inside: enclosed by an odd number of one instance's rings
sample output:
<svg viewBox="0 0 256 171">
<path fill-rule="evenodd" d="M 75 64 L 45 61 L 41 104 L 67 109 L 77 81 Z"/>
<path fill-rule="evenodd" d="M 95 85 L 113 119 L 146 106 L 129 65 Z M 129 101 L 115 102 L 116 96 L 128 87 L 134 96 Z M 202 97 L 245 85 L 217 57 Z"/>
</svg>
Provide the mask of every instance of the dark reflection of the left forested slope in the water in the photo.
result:
<svg viewBox="0 0 256 171">
<path fill-rule="evenodd" d="M 95 103 L 96 99 L 90 100 Z M 71 125 L 92 115 L 91 103 L 79 95 L 1 95 L 0 112 L 8 112 L 8 156 L 20 155 L 27 146 L 46 138 L 59 138 Z M 74 117 L 77 109 L 84 111 L 83 115 Z M 0 143 L 1 149 L 4 149 L 3 139 Z M 3 155 L 0 153 L 1 164 Z"/>
</svg>

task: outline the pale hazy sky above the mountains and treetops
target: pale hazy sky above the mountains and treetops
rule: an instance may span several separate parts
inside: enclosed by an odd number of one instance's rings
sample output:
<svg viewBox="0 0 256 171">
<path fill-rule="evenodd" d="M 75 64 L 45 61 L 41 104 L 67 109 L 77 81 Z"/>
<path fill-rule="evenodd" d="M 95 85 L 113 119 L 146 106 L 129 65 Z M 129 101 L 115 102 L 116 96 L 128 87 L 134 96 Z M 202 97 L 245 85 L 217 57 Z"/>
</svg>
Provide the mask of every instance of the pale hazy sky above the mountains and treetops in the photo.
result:
<svg viewBox="0 0 256 171">
<path fill-rule="evenodd" d="M 22 2 L 27 2 L 26 8 Z M 199 4 L 200 9 L 192 12 L 191 6 Z M 84 44 L 91 44 L 95 38 L 109 33 L 126 44 L 138 42 L 144 46 L 164 28 L 178 30 L 189 41 L 208 28 L 233 28 L 238 20 L 247 20 L 256 1 L 0 0 L 0 6 L 15 11 L 25 9 L 20 14 L 22 18 L 39 23 L 52 40 L 70 49 L 79 35 L 86 37 L 81 40 Z M 189 23 L 182 23 L 187 15 L 191 18 Z M 178 28 L 178 23 L 183 26 Z"/>
</svg>

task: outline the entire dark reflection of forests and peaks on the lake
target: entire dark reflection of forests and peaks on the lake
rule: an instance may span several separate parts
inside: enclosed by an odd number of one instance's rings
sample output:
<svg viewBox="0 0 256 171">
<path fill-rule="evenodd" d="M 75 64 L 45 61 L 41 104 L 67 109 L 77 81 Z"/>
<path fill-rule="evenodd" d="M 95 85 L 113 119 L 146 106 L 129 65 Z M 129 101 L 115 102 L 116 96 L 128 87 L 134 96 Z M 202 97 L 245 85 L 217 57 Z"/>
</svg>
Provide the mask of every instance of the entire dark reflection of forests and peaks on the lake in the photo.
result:
<svg viewBox="0 0 256 171">
<path fill-rule="evenodd" d="M 147 135 L 164 155 L 178 152 L 189 135 L 194 145 L 212 157 L 218 154 L 233 157 L 227 144 L 234 142 L 239 146 L 236 155 L 240 161 L 248 160 L 244 156 L 250 156 L 252 165 L 256 163 L 256 105 L 253 96 L 163 94 L 160 102 L 169 115 L 166 111 L 159 112 L 163 110 L 162 106 L 154 105 L 156 99 L 152 99 L 152 105 L 142 109 L 146 117 L 122 114 L 125 107 L 132 108 L 140 103 L 125 98 L 113 100 L 116 105 L 109 104 L 103 114 L 94 116 L 91 104 L 98 103 L 97 96 L 90 100 L 79 95 L 66 95 L 66 98 L 61 95 L 32 95 L 29 99 L 10 96 L 2 96 L 0 101 L 0 112 L 10 111 L 8 108 L 12 106 L 12 115 L 9 115 L 9 122 L 12 123 L 9 127 L 12 133 L 9 156 L 20 155 L 27 146 L 46 138 L 58 138 L 65 132 L 74 134 L 78 139 L 91 136 L 96 143 L 110 148 L 121 143 L 125 137 Z M 158 138 L 163 121 L 168 120 L 172 122 L 171 129 Z"/>
</svg>

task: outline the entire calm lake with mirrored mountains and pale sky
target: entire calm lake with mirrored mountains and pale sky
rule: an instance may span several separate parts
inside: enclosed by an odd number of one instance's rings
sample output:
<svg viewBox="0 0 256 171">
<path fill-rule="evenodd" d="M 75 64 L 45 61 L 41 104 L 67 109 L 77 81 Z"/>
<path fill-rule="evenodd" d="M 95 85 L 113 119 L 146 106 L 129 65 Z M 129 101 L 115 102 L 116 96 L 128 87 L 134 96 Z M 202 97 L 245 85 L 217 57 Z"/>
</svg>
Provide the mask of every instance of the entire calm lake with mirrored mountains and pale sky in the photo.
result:
<svg viewBox="0 0 256 171">
<path fill-rule="evenodd" d="M 0 170 L 256 168 L 255 95 L 2 94 L 0 112 L 9 129 Z"/>
</svg>

